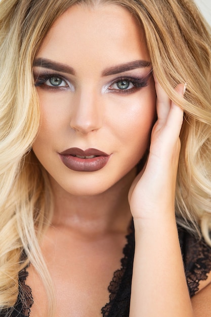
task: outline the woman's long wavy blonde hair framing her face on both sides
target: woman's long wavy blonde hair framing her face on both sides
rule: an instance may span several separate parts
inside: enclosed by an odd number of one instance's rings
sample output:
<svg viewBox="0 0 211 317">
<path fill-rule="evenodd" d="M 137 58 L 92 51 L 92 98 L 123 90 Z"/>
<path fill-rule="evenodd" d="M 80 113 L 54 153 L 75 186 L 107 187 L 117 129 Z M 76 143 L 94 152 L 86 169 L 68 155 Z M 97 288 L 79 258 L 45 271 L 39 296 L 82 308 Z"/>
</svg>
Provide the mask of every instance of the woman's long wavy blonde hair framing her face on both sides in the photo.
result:
<svg viewBox="0 0 211 317">
<path fill-rule="evenodd" d="M 31 151 L 40 116 L 32 67 L 41 42 L 63 12 L 74 4 L 99 3 L 123 6 L 140 21 L 153 72 L 185 111 L 176 214 L 178 222 L 196 235 L 200 235 L 200 225 L 211 245 L 211 32 L 194 2 L 1 0 L 0 308 L 15 304 L 18 273 L 30 262 L 44 281 L 49 315 L 53 315 L 54 292 L 39 249 L 51 223 L 53 197 L 47 172 Z M 175 87 L 186 82 L 182 99 Z"/>
</svg>

